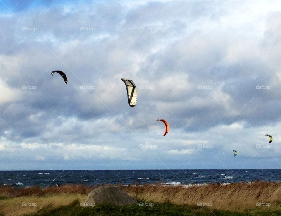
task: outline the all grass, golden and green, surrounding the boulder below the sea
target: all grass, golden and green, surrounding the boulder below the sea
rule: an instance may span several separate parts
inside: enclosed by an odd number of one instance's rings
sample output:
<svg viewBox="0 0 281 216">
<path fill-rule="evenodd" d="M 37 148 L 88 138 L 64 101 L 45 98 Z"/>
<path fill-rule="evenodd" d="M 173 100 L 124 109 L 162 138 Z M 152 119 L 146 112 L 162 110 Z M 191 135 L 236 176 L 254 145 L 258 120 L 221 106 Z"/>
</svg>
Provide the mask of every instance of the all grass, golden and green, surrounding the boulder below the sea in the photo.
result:
<svg viewBox="0 0 281 216">
<path fill-rule="evenodd" d="M 253 182 L 205 186 L 118 186 L 143 206 L 99 204 L 84 207 L 94 188 L 0 187 L 0 215 L 280 215 L 281 183 Z M 259 203 L 259 204 L 257 204 Z M 198 206 L 199 205 L 199 206 Z M 200 206 L 201 205 L 201 206 Z M 260 206 L 256 206 L 260 205 Z"/>
</svg>

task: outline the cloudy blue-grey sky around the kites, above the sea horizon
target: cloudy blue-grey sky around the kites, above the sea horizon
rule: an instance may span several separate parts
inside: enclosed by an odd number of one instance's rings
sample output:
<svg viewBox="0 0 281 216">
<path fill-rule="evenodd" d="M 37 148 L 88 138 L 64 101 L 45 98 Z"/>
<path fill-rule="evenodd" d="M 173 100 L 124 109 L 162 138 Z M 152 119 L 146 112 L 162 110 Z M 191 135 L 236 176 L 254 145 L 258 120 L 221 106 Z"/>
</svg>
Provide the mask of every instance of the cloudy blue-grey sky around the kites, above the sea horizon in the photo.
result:
<svg viewBox="0 0 281 216">
<path fill-rule="evenodd" d="M 280 169 L 278 0 L 0 0 L 0 23 L 0 170 Z"/>
</svg>

